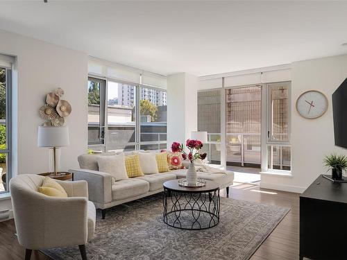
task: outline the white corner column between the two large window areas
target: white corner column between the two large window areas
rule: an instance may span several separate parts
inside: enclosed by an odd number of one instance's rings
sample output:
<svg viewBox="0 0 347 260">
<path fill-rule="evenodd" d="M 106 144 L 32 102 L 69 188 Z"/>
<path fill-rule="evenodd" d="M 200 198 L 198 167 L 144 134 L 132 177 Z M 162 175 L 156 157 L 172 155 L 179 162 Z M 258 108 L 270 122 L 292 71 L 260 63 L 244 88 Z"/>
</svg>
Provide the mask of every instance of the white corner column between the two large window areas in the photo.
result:
<svg viewBox="0 0 347 260">
<path fill-rule="evenodd" d="M 167 146 L 185 142 L 197 129 L 197 78 L 187 73 L 167 77 Z"/>
</svg>

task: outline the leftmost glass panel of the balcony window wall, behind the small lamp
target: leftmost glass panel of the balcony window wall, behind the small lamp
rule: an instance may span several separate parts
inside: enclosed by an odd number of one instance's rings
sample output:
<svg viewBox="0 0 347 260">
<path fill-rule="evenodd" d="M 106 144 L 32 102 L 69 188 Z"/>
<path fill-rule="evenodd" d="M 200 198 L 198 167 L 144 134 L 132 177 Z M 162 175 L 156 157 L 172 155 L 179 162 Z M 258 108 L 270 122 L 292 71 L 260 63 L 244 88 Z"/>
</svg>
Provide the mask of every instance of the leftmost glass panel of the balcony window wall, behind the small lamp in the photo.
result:
<svg viewBox="0 0 347 260">
<path fill-rule="evenodd" d="M 221 164 L 221 89 L 198 92 L 198 131 L 208 132 L 208 162 Z"/>
</svg>

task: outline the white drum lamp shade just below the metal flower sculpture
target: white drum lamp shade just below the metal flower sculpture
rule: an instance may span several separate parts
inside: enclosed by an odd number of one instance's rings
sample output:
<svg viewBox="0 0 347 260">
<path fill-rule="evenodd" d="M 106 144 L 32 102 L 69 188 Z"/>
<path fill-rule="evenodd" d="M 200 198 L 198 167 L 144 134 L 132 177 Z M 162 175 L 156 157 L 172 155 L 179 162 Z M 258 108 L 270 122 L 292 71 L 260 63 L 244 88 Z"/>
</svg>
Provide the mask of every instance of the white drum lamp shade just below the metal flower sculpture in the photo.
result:
<svg viewBox="0 0 347 260">
<path fill-rule="evenodd" d="M 69 145 L 69 128 L 67 126 L 39 126 L 37 146 L 61 147 Z"/>
</svg>

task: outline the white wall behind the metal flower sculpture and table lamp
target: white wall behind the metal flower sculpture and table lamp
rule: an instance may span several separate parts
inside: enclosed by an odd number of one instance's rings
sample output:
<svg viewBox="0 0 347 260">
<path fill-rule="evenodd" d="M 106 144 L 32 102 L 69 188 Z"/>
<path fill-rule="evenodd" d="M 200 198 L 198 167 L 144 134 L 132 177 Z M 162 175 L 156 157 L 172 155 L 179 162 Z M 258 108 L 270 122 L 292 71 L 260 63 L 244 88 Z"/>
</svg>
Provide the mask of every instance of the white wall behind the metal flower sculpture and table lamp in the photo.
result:
<svg viewBox="0 0 347 260">
<path fill-rule="evenodd" d="M 77 156 L 87 152 L 87 54 L 0 31 L 0 53 L 17 56 L 17 170 L 14 174 L 49 170 L 49 153 L 37 147 L 39 108 L 56 87 L 65 90 L 72 107 L 66 118 L 70 146 L 62 148 L 63 171 L 78 166 Z"/>
</svg>

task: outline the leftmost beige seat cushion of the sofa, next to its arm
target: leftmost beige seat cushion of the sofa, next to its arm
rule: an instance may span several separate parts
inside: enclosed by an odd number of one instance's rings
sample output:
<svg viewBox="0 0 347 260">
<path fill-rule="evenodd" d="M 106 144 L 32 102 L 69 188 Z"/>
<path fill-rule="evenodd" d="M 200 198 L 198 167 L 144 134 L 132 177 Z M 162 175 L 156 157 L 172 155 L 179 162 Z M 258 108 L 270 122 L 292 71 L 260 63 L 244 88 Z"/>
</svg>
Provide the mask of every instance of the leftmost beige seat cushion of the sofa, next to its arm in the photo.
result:
<svg viewBox="0 0 347 260">
<path fill-rule="evenodd" d="M 138 177 L 119 180 L 112 185 L 112 200 L 124 200 L 149 192 L 149 182 Z"/>
</svg>

